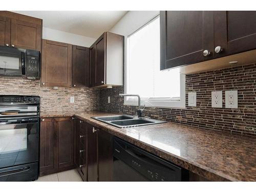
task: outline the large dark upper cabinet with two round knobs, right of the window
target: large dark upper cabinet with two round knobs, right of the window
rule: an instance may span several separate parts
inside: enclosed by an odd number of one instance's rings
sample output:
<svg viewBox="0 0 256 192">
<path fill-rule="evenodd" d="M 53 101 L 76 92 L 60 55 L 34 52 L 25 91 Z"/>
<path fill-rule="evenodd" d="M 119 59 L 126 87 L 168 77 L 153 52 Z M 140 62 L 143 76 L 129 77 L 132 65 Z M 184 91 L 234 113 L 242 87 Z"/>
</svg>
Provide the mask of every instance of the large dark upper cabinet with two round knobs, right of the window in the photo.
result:
<svg viewBox="0 0 256 192">
<path fill-rule="evenodd" d="M 160 70 L 256 49 L 255 37 L 255 11 L 160 11 Z"/>
</svg>

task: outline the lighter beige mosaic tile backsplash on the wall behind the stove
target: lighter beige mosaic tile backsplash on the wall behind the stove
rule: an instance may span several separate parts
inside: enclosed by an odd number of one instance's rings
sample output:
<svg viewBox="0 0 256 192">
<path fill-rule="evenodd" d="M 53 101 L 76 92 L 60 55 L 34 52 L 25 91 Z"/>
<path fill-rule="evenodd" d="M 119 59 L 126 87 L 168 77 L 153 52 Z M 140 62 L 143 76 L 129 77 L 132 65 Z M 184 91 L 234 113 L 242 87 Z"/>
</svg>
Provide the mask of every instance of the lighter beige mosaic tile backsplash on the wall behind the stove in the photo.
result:
<svg viewBox="0 0 256 192">
<path fill-rule="evenodd" d="M 1 95 L 37 95 L 41 97 L 41 112 L 95 111 L 99 109 L 99 91 L 90 88 L 40 87 L 40 80 L 0 77 Z M 70 103 L 70 96 L 75 102 Z"/>
</svg>

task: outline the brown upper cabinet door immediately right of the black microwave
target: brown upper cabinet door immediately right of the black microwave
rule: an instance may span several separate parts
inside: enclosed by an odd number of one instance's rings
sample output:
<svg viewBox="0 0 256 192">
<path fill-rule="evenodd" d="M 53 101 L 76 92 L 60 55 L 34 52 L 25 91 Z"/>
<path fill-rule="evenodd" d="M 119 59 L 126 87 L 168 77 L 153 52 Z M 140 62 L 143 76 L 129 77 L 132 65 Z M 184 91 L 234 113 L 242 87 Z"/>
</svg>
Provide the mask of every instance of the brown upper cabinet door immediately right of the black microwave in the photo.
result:
<svg viewBox="0 0 256 192">
<path fill-rule="evenodd" d="M 41 85 L 71 87 L 72 45 L 42 40 Z"/>
</svg>

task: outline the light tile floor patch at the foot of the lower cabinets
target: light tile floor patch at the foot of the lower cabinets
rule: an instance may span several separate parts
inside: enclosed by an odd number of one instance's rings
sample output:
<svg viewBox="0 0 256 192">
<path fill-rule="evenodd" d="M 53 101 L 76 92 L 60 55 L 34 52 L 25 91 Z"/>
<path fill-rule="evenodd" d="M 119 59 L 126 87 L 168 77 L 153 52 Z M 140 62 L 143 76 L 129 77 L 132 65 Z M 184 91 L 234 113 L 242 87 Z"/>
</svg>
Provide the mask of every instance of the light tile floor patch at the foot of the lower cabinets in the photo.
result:
<svg viewBox="0 0 256 192">
<path fill-rule="evenodd" d="M 43 177 L 38 177 L 36 181 L 82 181 L 80 175 L 76 169 L 66 170 L 66 172 L 60 172 Z"/>
</svg>

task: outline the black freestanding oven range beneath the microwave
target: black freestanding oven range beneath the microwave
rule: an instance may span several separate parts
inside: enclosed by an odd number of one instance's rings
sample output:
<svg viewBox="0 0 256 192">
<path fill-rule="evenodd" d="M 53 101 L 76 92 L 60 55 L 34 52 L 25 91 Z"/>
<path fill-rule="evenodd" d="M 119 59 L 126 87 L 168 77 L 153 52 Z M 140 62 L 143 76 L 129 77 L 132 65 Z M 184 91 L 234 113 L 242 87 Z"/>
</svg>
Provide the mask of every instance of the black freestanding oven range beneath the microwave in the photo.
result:
<svg viewBox="0 0 256 192">
<path fill-rule="evenodd" d="M 38 178 L 38 96 L 0 96 L 0 181 Z"/>
</svg>

